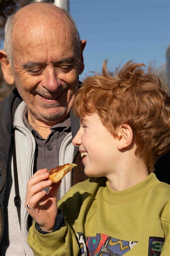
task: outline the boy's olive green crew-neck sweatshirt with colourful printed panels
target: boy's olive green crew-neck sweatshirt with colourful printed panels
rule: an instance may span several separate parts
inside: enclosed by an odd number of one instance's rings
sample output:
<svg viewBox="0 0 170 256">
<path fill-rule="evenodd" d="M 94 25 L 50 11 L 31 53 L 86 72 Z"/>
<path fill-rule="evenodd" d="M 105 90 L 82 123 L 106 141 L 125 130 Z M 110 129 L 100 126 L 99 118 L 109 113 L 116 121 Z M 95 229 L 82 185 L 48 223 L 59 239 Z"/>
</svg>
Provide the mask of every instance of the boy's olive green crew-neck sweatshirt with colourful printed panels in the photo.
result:
<svg viewBox="0 0 170 256">
<path fill-rule="evenodd" d="M 170 255 L 170 185 L 154 173 L 122 191 L 92 178 L 73 186 L 58 205 L 65 226 L 43 235 L 34 223 L 28 236 L 34 255 Z"/>
</svg>

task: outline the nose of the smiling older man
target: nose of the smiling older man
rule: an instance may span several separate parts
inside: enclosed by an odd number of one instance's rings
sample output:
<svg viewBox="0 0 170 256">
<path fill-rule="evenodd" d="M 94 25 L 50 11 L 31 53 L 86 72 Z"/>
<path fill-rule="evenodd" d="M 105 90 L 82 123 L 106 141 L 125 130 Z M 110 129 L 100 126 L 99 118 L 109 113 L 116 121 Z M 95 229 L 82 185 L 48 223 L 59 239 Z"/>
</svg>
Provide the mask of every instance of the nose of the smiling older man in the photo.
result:
<svg viewBox="0 0 170 256">
<path fill-rule="evenodd" d="M 43 85 L 48 91 L 57 91 L 58 88 L 61 86 L 61 80 L 58 78 L 57 71 L 55 71 L 53 68 L 48 69 L 45 74 L 45 81 Z"/>
</svg>

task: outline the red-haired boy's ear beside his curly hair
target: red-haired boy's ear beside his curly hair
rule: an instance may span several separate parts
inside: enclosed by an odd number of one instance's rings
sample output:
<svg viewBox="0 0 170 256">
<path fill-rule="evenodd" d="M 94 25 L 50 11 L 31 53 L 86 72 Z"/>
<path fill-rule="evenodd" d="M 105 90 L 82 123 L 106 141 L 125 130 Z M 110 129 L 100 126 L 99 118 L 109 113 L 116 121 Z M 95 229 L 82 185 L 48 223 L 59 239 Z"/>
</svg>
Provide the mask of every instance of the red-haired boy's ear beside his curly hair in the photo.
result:
<svg viewBox="0 0 170 256">
<path fill-rule="evenodd" d="M 127 124 L 120 125 L 118 128 L 117 149 L 121 150 L 131 145 L 133 140 L 133 131 Z"/>
</svg>

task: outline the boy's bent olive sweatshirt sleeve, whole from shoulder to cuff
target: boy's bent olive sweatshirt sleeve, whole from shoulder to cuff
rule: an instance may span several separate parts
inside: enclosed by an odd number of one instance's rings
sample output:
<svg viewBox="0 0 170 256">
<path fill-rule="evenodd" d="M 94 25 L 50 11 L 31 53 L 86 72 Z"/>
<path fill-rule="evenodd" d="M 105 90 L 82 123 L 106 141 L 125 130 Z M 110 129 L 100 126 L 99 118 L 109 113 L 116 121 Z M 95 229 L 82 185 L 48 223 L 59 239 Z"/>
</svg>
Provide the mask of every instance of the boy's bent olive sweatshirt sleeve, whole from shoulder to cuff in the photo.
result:
<svg viewBox="0 0 170 256">
<path fill-rule="evenodd" d="M 36 230 L 35 222 L 30 227 L 28 233 L 28 244 L 32 248 L 36 256 L 78 256 L 81 255 L 78 238 L 76 237 L 76 223 L 77 219 L 81 219 L 82 205 L 87 198 L 91 198 L 96 189 L 96 184 L 89 183 L 92 190 L 88 187 L 89 181 L 76 184 L 69 189 L 69 191 L 58 202 L 58 209 L 63 212 L 65 217 L 65 225 L 59 230 L 48 234 L 41 234 Z M 87 190 L 90 192 L 86 192 Z M 84 211 L 83 211 L 84 212 Z"/>
</svg>

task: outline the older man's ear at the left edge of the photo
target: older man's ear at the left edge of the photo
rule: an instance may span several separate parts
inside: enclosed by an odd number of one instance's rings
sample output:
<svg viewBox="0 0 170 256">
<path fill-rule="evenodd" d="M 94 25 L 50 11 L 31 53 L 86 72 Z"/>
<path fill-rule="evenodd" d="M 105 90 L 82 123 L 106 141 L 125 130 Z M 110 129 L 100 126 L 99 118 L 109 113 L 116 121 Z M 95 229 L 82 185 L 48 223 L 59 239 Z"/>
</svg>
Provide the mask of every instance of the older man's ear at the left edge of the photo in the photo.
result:
<svg viewBox="0 0 170 256">
<path fill-rule="evenodd" d="M 14 77 L 13 77 L 11 65 L 6 56 L 6 52 L 3 50 L 0 50 L 0 62 L 1 62 L 1 69 L 2 69 L 5 81 L 9 85 L 14 84 Z"/>
</svg>

